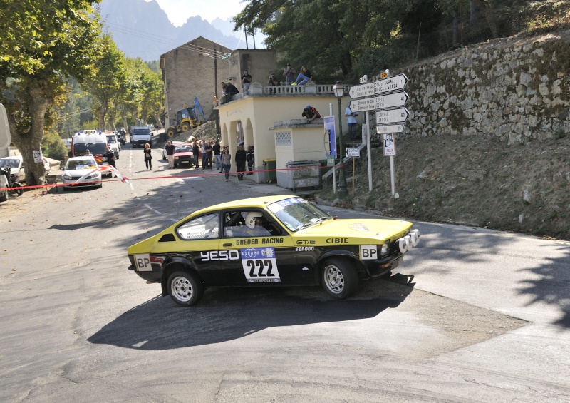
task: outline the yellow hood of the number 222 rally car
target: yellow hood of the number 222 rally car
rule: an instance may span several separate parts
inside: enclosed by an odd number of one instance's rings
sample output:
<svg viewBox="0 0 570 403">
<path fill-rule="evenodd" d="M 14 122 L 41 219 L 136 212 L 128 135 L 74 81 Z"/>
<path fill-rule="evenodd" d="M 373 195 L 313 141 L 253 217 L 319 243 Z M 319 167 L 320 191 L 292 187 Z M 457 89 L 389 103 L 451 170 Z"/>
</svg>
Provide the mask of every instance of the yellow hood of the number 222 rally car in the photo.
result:
<svg viewBox="0 0 570 403">
<path fill-rule="evenodd" d="M 386 219 L 348 219 L 327 220 L 322 224 L 311 225 L 304 230 L 296 231 L 296 236 L 302 237 L 331 237 L 373 238 L 375 240 L 394 240 L 408 233 L 412 223 L 402 220 Z"/>
</svg>

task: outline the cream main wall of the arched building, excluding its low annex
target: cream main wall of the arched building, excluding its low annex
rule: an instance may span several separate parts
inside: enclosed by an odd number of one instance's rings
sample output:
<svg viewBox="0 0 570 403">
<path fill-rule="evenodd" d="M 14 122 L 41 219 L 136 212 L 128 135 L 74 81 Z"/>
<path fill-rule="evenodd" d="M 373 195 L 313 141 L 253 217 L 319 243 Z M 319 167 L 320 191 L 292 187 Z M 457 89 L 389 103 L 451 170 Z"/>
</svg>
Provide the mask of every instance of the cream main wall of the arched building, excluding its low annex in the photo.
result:
<svg viewBox="0 0 570 403">
<path fill-rule="evenodd" d="M 341 102 L 341 113 L 343 114 L 350 98 L 345 96 Z M 275 143 L 275 123 L 303 119 L 301 114 L 307 104 L 314 106 L 322 117 L 330 114 L 330 105 L 333 115 L 336 116 L 336 133 L 338 133 L 338 101 L 332 93 L 330 95 L 302 94 L 299 96 L 254 95 L 237 98 L 235 101 L 218 107 L 222 133 L 220 141 L 224 146 L 229 146 L 232 159 L 237 151 L 237 143 L 242 138 L 246 150 L 247 146 L 253 145 L 255 148 L 254 170 L 263 170 L 263 160 L 266 159 L 276 159 L 279 163 L 276 167 L 278 169 L 286 168 L 285 165 L 289 160 L 324 159 L 326 157 L 322 121 L 318 123 L 320 126 L 315 123 L 306 125 L 302 121 L 300 122 L 301 125 L 297 124 L 299 121 L 297 123 L 292 122 L 292 125 L 296 125 L 294 148 L 286 151 L 281 148 L 281 151 L 288 154 L 279 155 L 279 158 L 277 155 L 280 149 L 276 147 Z M 344 116 L 342 118 L 344 119 Z M 346 119 L 344 119 L 343 125 L 345 121 Z M 233 169 L 234 166 L 232 166 Z M 265 173 L 255 174 L 252 178 L 257 182 L 265 182 Z"/>
</svg>

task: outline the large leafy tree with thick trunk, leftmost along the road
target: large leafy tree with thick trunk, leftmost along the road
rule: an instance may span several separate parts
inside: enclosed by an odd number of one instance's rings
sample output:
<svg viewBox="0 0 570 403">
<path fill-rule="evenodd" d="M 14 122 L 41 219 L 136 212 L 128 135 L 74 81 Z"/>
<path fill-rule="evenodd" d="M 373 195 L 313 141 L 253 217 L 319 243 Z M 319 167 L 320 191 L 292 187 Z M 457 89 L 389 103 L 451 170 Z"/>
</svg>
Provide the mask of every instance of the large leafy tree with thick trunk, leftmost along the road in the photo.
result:
<svg viewBox="0 0 570 403">
<path fill-rule="evenodd" d="M 0 100 L 11 138 L 26 163 L 26 183 L 42 185 L 46 171 L 34 161 L 51 106 L 66 93 L 66 78 L 79 81 L 93 71 L 100 32 L 95 1 L 0 0 Z"/>
</svg>

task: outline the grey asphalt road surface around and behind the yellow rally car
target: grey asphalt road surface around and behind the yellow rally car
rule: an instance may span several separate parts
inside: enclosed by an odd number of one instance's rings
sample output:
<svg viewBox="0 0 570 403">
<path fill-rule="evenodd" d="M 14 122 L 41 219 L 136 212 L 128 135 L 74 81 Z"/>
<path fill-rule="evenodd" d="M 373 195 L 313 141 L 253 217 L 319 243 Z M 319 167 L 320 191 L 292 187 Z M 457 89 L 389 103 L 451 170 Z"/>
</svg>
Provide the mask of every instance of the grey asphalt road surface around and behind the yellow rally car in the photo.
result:
<svg viewBox="0 0 570 403">
<path fill-rule="evenodd" d="M 182 178 L 204 172 L 154 156 L 145 170 L 127 145 L 130 183 L 0 205 L 0 402 L 570 401 L 569 243 L 415 223 L 399 272 L 348 300 L 213 288 L 177 307 L 126 248 L 209 204 L 287 191 Z"/>
</svg>

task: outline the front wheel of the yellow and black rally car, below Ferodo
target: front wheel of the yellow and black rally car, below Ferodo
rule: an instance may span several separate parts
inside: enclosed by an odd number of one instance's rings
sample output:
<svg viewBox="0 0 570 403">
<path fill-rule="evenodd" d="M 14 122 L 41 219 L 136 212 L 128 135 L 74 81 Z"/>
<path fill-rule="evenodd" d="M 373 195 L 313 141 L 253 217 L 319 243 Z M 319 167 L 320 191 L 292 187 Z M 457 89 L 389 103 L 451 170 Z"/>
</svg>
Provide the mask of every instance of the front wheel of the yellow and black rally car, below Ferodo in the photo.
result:
<svg viewBox="0 0 570 403">
<path fill-rule="evenodd" d="M 358 289 L 358 273 L 346 260 L 332 258 L 323 264 L 321 282 L 328 295 L 343 300 Z"/>
</svg>

